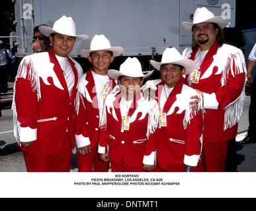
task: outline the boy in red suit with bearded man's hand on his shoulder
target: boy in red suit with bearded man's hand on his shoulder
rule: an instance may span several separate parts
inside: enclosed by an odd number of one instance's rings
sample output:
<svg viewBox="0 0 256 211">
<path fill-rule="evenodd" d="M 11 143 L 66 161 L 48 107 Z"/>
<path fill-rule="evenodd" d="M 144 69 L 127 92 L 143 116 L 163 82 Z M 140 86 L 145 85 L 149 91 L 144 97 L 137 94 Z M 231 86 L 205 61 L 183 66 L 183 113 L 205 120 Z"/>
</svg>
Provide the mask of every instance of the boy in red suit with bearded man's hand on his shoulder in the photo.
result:
<svg viewBox="0 0 256 211">
<path fill-rule="evenodd" d="M 145 85 L 155 90 L 159 104 L 157 167 L 159 171 L 204 171 L 201 97 L 183 77 L 194 71 L 196 63 L 184 59 L 175 47 L 165 49 L 161 62 L 150 63 L 161 75 Z M 190 105 L 192 96 L 198 96 L 197 111 Z"/>
</svg>

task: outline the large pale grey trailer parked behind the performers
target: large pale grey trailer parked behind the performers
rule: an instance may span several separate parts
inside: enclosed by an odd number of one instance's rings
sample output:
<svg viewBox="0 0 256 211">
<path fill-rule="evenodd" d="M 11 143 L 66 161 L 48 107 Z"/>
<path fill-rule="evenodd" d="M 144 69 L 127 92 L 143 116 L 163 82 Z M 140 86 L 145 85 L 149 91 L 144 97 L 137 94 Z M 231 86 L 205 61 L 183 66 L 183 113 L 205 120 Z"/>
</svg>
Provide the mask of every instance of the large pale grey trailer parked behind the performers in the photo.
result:
<svg viewBox="0 0 256 211">
<path fill-rule="evenodd" d="M 71 57 L 79 57 L 80 48 L 88 49 L 95 34 L 122 46 L 123 56 L 161 55 L 171 46 L 183 51 L 191 44 L 191 33 L 181 22 L 192 21 L 198 7 L 230 18 L 235 26 L 235 0 L 16 0 L 17 57 L 32 53 L 34 26 L 52 27 L 62 15 L 72 16 L 77 34 L 89 35 L 75 44 Z"/>
</svg>

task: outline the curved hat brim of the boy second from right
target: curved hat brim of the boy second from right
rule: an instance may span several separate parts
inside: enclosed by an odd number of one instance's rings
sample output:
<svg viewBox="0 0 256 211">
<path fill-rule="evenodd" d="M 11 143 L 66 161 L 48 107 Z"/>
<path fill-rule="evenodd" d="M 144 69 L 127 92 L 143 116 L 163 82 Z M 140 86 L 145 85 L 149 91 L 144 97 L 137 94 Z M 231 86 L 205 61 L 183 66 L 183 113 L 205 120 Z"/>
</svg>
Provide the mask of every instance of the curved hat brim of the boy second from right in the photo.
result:
<svg viewBox="0 0 256 211">
<path fill-rule="evenodd" d="M 191 59 L 180 59 L 177 61 L 171 61 L 171 62 L 167 62 L 167 63 L 161 63 L 161 62 L 150 60 L 150 63 L 158 71 L 160 71 L 161 65 L 167 65 L 167 64 L 181 65 L 186 69 L 185 75 L 191 74 L 196 69 L 196 63 L 194 61 L 192 61 Z"/>
</svg>

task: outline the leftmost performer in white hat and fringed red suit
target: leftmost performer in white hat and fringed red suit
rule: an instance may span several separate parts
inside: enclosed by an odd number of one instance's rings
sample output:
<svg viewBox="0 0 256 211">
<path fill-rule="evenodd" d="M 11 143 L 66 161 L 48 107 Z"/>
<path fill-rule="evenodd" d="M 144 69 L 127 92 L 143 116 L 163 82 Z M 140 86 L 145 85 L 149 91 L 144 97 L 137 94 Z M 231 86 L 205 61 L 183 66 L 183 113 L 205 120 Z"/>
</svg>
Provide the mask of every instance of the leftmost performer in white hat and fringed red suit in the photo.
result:
<svg viewBox="0 0 256 211">
<path fill-rule="evenodd" d="M 75 146 L 74 100 L 83 70 L 68 57 L 77 40 L 75 22 L 62 16 L 53 28 L 40 26 L 49 36 L 48 52 L 24 57 L 15 81 L 13 120 L 15 136 L 28 171 L 69 171 Z"/>
</svg>

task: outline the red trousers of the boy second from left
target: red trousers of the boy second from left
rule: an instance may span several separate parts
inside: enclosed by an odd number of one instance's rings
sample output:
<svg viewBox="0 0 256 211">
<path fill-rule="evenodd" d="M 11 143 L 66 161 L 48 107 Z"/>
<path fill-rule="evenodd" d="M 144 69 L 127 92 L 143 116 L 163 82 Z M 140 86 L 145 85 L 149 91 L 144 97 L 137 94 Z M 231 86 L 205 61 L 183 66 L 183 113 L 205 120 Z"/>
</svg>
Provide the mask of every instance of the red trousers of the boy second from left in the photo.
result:
<svg viewBox="0 0 256 211">
<path fill-rule="evenodd" d="M 77 153 L 77 166 L 79 172 L 107 172 L 109 162 L 103 163 L 99 160 L 98 148 L 95 147 L 85 156 Z"/>
</svg>

